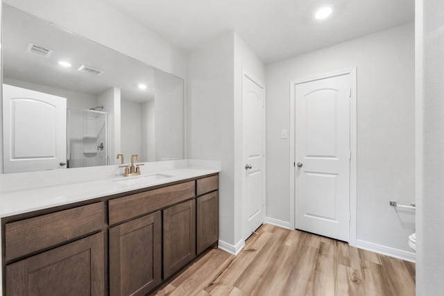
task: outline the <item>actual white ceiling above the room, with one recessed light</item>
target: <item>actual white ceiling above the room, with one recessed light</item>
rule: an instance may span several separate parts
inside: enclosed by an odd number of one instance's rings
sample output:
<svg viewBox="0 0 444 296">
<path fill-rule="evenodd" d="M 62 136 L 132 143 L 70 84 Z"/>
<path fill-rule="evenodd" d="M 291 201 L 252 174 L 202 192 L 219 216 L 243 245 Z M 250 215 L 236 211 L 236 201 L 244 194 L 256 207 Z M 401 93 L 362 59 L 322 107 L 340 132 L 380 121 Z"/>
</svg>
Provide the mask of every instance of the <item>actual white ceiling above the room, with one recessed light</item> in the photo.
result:
<svg viewBox="0 0 444 296">
<path fill-rule="evenodd" d="M 236 31 L 275 62 L 414 20 L 414 0 L 102 0 L 185 51 Z M 316 8 L 330 3 L 329 19 Z"/>
</svg>

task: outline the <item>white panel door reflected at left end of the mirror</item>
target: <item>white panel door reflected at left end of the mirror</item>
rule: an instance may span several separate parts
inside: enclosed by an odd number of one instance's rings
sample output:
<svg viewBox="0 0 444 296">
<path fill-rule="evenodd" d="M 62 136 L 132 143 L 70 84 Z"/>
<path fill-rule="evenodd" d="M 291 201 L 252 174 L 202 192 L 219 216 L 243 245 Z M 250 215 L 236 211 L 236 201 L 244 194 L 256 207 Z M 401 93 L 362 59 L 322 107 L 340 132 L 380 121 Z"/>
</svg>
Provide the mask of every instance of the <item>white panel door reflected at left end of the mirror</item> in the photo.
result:
<svg viewBox="0 0 444 296">
<path fill-rule="evenodd" d="M 66 168 L 67 100 L 3 85 L 3 171 Z"/>
</svg>

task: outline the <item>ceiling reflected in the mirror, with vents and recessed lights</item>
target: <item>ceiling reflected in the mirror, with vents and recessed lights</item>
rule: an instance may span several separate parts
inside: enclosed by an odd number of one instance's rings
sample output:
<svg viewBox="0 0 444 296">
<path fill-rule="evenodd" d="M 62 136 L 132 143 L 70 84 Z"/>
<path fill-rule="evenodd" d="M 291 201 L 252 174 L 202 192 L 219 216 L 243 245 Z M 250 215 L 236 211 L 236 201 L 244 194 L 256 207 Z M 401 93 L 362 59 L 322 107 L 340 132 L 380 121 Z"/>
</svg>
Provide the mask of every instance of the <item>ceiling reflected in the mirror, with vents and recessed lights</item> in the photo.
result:
<svg viewBox="0 0 444 296">
<path fill-rule="evenodd" d="M 2 13 L 3 79 L 6 82 L 13 79 L 93 96 L 117 87 L 124 100 L 142 103 L 153 99 L 155 70 L 152 67 L 6 4 L 2 6 Z M 28 53 L 30 42 L 53 50 L 52 55 L 43 58 Z M 60 67 L 59 60 L 69 61 L 72 67 Z M 82 64 L 104 73 L 100 76 L 81 73 L 77 69 Z M 139 89 L 139 83 L 147 89 Z M 30 85 L 24 87 L 31 88 Z"/>
</svg>

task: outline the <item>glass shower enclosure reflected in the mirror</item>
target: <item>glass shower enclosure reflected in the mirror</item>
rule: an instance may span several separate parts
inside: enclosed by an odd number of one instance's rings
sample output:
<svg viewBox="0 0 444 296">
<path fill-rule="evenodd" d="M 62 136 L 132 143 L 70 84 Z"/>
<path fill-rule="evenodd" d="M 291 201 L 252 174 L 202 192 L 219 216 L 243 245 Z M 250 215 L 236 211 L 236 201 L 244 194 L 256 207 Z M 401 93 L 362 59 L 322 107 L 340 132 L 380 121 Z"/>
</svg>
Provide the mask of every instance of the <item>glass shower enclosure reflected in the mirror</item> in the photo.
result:
<svg viewBox="0 0 444 296">
<path fill-rule="evenodd" d="M 68 167 L 104 166 L 108 161 L 108 113 L 68 109 Z"/>
</svg>

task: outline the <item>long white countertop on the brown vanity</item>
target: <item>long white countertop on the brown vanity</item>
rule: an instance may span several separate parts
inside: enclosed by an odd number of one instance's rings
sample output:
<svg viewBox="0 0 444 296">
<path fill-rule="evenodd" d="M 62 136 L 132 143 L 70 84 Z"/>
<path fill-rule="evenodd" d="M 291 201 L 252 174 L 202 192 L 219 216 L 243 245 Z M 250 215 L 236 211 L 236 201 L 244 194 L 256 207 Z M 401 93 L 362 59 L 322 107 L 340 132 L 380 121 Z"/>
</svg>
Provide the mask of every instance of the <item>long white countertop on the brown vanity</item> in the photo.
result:
<svg viewBox="0 0 444 296">
<path fill-rule="evenodd" d="M 30 211 L 57 207 L 64 204 L 71 204 L 94 198 L 101 198 L 107 195 L 143 189 L 160 184 L 177 182 L 193 177 L 200 177 L 212 173 L 219 173 L 218 168 L 173 168 L 165 171 L 149 171 L 138 176 L 105 177 L 101 180 L 86 182 L 75 182 L 68 184 L 53 184 L 49 186 L 33 186 L 24 189 L 10 189 L 0 192 L 0 218 L 23 214 Z M 168 175 L 159 180 L 143 179 L 149 175 Z M 140 178 L 136 184 L 126 184 L 126 180 Z M 116 182 L 124 180 L 123 182 Z M 140 182 L 143 180 L 142 182 Z"/>
</svg>

